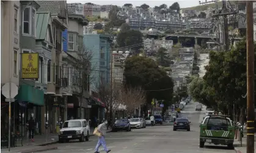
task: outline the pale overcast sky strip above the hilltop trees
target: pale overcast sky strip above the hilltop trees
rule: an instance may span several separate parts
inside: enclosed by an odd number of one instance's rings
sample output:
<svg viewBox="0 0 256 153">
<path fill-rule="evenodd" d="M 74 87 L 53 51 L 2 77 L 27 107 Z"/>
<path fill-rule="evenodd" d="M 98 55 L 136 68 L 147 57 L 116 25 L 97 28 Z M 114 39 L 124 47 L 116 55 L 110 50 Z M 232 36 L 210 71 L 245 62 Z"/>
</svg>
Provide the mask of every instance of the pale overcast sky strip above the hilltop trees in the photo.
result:
<svg viewBox="0 0 256 153">
<path fill-rule="evenodd" d="M 180 4 L 180 8 L 186 8 L 186 7 L 193 7 L 199 5 L 199 0 L 176 0 L 176 1 L 150 1 L 150 0 L 141 0 L 141 1 L 136 1 L 136 0 L 129 0 L 129 1 L 124 1 L 124 0 L 116 0 L 116 1 L 103 1 L 103 0 L 93 0 L 93 1 L 82 1 L 82 0 L 67 0 L 67 3 L 81 3 L 84 4 L 86 2 L 92 2 L 93 4 L 98 4 L 98 5 L 119 5 L 122 6 L 123 4 L 130 3 L 133 4 L 133 6 L 140 6 L 142 4 L 147 4 L 150 5 L 150 7 L 155 7 L 155 5 L 161 5 L 161 4 L 166 4 L 168 7 L 172 5 L 174 2 L 178 2 Z"/>
</svg>

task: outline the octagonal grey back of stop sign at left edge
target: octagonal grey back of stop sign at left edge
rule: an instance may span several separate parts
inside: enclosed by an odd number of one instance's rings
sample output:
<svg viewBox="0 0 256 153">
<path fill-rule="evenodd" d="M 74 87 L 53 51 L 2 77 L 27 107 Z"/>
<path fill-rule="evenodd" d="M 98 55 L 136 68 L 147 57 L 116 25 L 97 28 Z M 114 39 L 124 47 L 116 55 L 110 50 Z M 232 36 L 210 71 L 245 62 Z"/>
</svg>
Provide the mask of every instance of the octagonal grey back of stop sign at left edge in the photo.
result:
<svg viewBox="0 0 256 153">
<path fill-rule="evenodd" d="M 5 98 L 15 98 L 15 96 L 18 94 L 18 87 L 12 83 L 7 82 L 2 86 L 2 95 L 5 96 Z"/>
</svg>

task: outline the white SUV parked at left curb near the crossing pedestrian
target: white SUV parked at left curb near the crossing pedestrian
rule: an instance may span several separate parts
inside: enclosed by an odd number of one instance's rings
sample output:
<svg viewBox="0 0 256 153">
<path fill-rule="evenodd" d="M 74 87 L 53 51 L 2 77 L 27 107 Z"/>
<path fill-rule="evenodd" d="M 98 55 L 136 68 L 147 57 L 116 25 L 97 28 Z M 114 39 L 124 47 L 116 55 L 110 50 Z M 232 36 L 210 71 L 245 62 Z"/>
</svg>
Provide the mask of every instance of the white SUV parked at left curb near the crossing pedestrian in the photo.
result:
<svg viewBox="0 0 256 153">
<path fill-rule="evenodd" d="M 69 140 L 89 141 L 90 127 L 86 119 L 71 119 L 65 121 L 59 132 L 59 142 Z"/>
</svg>

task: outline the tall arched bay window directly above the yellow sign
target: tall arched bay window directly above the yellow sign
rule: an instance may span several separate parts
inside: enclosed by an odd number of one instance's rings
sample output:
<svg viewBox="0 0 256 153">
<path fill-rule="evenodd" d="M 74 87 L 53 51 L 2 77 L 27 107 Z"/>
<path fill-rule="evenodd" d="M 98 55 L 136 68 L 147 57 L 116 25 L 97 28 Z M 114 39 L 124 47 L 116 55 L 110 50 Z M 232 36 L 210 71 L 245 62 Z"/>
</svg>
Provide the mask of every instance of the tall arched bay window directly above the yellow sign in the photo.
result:
<svg viewBox="0 0 256 153">
<path fill-rule="evenodd" d="M 32 6 L 28 6 L 23 10 L 22 34 L 35 37 L 35 15 L 36 10 Z"/>
</svg>

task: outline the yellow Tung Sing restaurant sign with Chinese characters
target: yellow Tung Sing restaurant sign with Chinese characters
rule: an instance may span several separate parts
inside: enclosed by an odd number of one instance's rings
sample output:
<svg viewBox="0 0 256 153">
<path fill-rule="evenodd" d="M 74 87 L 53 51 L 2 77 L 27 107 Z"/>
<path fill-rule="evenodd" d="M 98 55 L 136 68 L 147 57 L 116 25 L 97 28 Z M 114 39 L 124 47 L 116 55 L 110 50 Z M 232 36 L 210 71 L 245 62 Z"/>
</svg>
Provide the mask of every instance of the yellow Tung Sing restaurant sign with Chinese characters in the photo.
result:
<svg viewBox="0 0 256 153">
<path fill-rule="evenodd" d="M 22 73 L 23 79 L 38 79 L 38 53 L 23 53 L 22 54 Z"/>
</svg>

